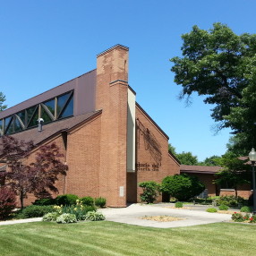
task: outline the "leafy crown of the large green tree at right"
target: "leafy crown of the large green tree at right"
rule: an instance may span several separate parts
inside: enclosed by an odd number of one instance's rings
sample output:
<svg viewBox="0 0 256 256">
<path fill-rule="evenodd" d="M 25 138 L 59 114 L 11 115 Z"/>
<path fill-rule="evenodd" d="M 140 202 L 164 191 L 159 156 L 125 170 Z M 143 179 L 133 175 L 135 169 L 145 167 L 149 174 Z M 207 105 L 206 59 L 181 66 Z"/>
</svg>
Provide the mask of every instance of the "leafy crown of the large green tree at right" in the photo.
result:
<svg viewBox="0 0 256 256">
<path fill-rule="evenodd" d="M 183 87 L 180 97 L 205 96 L 218 129 L 243 134 L 240 147 L 250 149 L 256 132 L 256 35 L 239 36 L 214 23 L 210 30 L 193 26 L 182 38 L 183 57 L 171 59 L 175 82 Z"/>
</svg>

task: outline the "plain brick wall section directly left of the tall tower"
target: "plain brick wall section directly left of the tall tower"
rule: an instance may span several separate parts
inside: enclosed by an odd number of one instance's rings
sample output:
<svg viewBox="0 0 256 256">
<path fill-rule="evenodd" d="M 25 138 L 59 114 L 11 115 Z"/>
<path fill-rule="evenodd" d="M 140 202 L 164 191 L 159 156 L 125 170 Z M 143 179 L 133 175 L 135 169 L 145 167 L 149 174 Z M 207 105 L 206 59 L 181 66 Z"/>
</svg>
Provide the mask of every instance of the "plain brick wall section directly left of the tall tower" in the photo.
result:
<svg viewBox="0 0 256 256">
<path fill-rule="evenodd" d="M 98 197 L 100 124 L 101 117 L 98 116 L 69 132 L 66 159 L 69 170 L 64 193 Z"/>
</svg>

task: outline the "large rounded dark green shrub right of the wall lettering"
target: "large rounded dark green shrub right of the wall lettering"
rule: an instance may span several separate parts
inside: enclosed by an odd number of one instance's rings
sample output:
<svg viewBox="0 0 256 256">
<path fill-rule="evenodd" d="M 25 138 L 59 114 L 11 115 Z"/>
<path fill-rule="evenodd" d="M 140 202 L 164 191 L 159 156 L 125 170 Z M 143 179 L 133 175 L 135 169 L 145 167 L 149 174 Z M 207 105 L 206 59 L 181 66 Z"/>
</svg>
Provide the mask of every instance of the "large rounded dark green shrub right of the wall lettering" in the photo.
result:
<svg viewBox="0 0 256 256">
<path fill-rule="evenodd" d="M 162 192 L 170 194 L 178 201 L 188 201 L 199 195 L 205 189 L 205 185 L 192 175 L 166 176 L 162 182 Z"/>
</svg>

